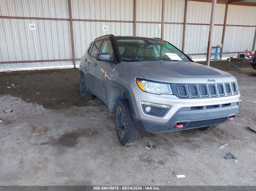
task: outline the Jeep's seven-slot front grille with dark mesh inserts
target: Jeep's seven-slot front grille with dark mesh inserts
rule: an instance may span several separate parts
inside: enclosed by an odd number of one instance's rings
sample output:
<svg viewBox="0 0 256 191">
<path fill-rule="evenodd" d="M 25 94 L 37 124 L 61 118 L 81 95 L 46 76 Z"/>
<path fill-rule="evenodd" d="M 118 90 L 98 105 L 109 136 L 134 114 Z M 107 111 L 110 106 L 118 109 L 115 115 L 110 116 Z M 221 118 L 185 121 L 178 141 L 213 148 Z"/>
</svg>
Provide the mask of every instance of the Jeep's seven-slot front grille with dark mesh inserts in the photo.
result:
<svg viewBox="0 0 256 191">
<path fill-rule="evenodd" d="M 216 97 L 237 94 L 235 82 L 225 84 L 178 84 L 176 85 L 178 96 L 191 97 Z"/>
</svg>

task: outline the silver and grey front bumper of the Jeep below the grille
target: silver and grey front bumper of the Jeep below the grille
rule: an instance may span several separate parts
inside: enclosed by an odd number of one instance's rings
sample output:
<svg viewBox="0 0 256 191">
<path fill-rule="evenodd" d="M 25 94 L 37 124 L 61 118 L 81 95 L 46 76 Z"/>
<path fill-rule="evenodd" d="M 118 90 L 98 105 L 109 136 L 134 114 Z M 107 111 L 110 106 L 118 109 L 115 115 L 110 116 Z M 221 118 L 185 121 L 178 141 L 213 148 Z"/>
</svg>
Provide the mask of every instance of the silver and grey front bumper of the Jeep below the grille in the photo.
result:
<svg viewBox="0 0 256 191">
<path fill-rule="evenodd" d="M 168 94 L 151 94 L 141 91 L 137 84 L 132 84 L 131 87 L 134 97 L 132 97 L 132 105 L 134 109 L 134 119 L 138 127 L 141 129 L 152 132 L 167 132 L 182 129 L 188 129 L 186 126 L 192 121 L 198 121 L 197 128 L 208 126 L 209 123 L 219 124 L 227 121 L 229 116 L 235 117 L 238 113 L 240 93 L 232 96 L 223 96 L 216 98 L 196 98 L 196 99 L 180 99 L 175 95 Z M 150 116 L 143 112 L 141 102 L 150 102 L 156 104 L 163 104 L 171 106 L 171 109 L 163 117 Z M 230 104 L 229 106 L 222 107 L 222 104 Z M 212 106 L 213 108 L 206 108 L 205 106 Z M 190 109 L 190 107 L 203 107 L 204 109 Z M 187 109 L 186 109 L 187 108 Z M 222 119 L 219 119 L 222 118 Z M 226 119 L 225 119 L 226 118 Z M 184 127 L 180 129 L 173 129 L 176 123 L 183 122 Z M 207 124 L 207 125 L 205 125 Z M 189 125 L 191 127 L 191 125 Z"/>
</svg>

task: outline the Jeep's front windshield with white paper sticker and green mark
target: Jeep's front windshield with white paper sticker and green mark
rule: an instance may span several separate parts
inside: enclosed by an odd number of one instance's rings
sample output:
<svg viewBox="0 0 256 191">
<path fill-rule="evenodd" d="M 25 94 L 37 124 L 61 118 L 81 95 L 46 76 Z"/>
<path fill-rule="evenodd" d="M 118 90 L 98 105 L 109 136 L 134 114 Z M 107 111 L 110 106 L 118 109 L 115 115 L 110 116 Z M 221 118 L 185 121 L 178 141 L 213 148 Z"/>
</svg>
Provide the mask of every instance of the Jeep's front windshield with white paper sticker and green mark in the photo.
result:
<svg viewBox="0 0 256 191">
<path fill-rule="evenodd" d="M 173 45 L 159 40 L 120 39 L 117 49 L 121 60 L 138 61 L 185 61 L 190 59 Z"/>
</svg>

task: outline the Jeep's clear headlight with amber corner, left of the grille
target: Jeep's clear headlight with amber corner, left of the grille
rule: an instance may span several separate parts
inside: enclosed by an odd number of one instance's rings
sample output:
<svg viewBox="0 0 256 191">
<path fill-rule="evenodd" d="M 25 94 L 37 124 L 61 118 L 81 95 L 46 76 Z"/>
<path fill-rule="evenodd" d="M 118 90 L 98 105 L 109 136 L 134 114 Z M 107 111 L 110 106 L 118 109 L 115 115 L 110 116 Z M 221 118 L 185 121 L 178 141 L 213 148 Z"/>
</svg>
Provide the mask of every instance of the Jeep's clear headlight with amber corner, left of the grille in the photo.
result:
<svg viewBox="0 0 256 191">
<path fill-rule="evenodd" d="M 142 91 L 153 94 L 172 94 L 170 84 L 136 79 L 136 82 Z"/>
</svg>

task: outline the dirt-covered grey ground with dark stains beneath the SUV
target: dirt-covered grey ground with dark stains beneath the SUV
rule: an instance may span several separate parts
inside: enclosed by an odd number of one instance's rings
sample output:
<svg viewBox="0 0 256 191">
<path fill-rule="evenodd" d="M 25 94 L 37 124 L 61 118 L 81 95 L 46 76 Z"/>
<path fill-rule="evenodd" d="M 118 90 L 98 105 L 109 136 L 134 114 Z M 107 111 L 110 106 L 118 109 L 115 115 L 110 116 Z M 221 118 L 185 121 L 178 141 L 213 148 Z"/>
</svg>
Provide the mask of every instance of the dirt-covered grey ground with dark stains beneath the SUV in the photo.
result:
<svg viewBox="0 0 256 191">
<path fill-rule="evenodd" d="M 209 132 L 142 132 L 131 147 L 119 144 L 114 114 L 97 97 L 81 100 L 78 69 L 1 72 L 0 185 L 255 186 L 256 133 L 248 126 L 256 128 L 256 70 L 242 61 L 211 66 L 238 79 L 241 117 Z M 6 88 L 12 83 L 18 87 Z M 149 140 L 162 150 L 146 149 Z"/>
</svg>

